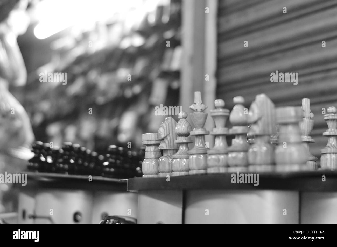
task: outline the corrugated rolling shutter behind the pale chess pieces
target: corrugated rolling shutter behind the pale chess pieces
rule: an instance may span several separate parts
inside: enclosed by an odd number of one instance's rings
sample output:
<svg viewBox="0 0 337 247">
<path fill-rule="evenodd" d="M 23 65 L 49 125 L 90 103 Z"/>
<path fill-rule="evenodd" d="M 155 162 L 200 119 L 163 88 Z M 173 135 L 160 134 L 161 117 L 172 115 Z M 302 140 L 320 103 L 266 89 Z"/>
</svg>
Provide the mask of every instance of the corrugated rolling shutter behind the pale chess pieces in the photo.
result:
<svg viewBox="0 0 337 247">
<path fill-rule="evenodd" d="M 299 83 L 271 82 L 277 70 L 299 73 Z M 322 108 L 337 106 L 337 1 L 220 0 L 217 79 L 216 96 L 229 109 L 238 95 L 246 107 L 261 93 L 276 107 L 309 98 L 315 115 L 310 151 L 319 162 L 328 140 Z"/>
</svg>

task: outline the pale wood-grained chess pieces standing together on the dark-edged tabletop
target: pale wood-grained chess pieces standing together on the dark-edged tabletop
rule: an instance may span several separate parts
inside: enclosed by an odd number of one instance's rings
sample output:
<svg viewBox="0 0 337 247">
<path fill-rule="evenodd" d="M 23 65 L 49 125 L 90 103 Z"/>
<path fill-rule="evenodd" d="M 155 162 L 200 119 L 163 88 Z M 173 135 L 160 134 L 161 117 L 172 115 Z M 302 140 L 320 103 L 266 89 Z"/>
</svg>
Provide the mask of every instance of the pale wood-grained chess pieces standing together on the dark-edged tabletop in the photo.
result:
<svg viewBox="0 0 337 247">
<path fill-rule="evenodd" d="M 184 176 L 229 172 L 296 172 L 337 169 L 337 109 L 329 107 L 324 115 L 328 130 L 328 144 L 321 149 L 320 167 L 317 157 L 309 150 L 314 140 L 310 133 L 314 116 L 310 100 L 302 99 L 302 106 L 275 107 L 265 94 L 256 95 L 249 109 L 242 96 L 234 97 L 232 111 L 217 99 L 210 110 L 215 128 L 204 128 L 208 113 L 201 93 L 194 92 L 194 104 L 189 113 L 194 129 L 187 121 L 187 113 L 179 114 L 178 122 L 171 116 L 157 133 L 142 135 L 146 146 L 142 163 L 143 177 Z M 231 128 L 226 128 L 229 119 Z M 214 146 L 206 147 L 205 135 L 215 137 Z M 190 136 L 194 136 L 194 146 Z M 231 145 L 226 136 L 233 136 Z"/>
</svg>

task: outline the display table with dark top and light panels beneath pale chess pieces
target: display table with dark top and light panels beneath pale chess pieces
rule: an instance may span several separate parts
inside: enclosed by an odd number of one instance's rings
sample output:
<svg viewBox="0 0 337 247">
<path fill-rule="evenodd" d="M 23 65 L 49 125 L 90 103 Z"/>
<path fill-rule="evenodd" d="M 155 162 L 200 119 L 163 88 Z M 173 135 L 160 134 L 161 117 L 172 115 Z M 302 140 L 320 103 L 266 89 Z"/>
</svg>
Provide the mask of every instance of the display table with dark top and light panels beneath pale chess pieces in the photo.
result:
<svg viewBox="0 0 337 247">
<path fill-rule="evenodd" d="M 127 190 L 138 223 L 337 223 L 337 172 L 259 173 L 258 186 L 231 174 L 132 178 Z"/>
</svg>

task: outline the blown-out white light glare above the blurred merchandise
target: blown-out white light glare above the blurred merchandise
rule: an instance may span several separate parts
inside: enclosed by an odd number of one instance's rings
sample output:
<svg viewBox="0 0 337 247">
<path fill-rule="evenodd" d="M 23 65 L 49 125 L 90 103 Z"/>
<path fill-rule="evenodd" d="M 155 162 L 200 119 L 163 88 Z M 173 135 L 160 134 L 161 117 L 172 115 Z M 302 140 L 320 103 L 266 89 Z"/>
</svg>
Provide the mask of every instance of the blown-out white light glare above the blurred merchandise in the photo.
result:
<svg viewBox="0 0 337 247">
<path fill-rule="evenodd" d="M 114 13 L 125 16 L 130 8 L 141 8 L 139 0 L 43 0 L 36 6 L 38 39 L 48 38 L 68 27 L 88 30 L 95 22 L 105 22 Z"/>
</svg>

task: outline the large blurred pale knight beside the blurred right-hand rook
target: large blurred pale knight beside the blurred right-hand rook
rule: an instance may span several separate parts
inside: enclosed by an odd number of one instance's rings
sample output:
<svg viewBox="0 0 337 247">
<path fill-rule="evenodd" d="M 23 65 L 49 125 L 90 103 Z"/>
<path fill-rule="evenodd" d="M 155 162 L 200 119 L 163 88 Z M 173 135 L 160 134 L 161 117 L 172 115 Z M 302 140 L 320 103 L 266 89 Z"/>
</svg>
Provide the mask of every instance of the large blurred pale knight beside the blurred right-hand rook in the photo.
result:
<svg viewBox="0 0 337 247">
<path fill-rule="evenodd" d="M 275 105 L 265 94 L 256 95 L 248 111 L 249 135 L 253 144 L 248 149 L 250 171 L 274 170 L 274 146 L 271 136 L 276 133 Z"/>
</svg>

